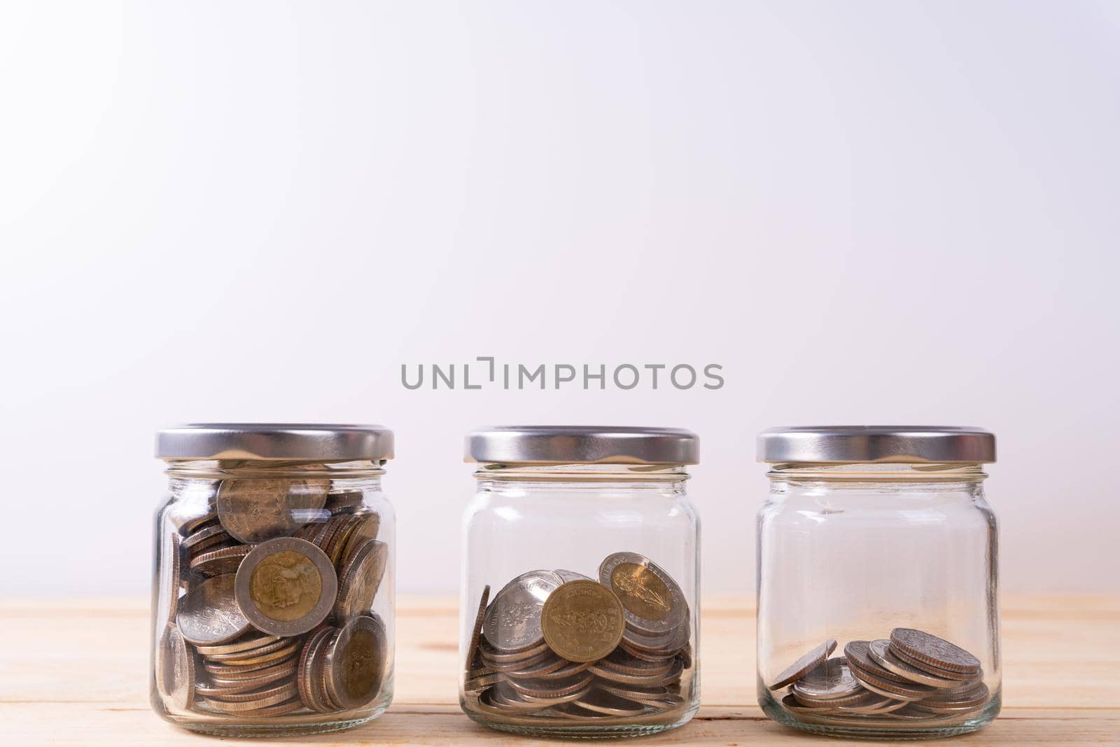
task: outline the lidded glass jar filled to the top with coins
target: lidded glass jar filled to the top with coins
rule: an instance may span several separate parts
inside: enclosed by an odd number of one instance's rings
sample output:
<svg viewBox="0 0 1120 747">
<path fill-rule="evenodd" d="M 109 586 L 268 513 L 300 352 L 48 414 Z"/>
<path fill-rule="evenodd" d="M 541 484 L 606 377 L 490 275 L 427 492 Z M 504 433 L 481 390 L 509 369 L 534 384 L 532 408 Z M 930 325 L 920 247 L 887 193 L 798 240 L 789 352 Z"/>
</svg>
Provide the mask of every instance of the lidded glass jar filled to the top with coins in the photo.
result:
<svg viewBox="0 0 1120 747">
<path fill-rule="evenodd" d="M 151 706 L 228 736 L 333 731 L 393 697 L 393 433 L 213 423 L 160 431 Z"/>
</svg>

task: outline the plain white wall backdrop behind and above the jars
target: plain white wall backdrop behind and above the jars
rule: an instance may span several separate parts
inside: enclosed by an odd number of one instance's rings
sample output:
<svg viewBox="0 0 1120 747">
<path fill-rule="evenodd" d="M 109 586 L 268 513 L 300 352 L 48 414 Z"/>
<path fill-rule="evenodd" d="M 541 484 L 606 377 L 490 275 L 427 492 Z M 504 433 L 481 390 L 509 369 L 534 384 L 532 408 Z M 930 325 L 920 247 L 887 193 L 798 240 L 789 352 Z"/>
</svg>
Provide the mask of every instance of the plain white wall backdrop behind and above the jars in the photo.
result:
<svg viewBox="0 0 1120 747">
<path fill-rule="evenodd" d="M 776 424 L 999 437 L 1006 590 L 1117 591 L 1117 2 L 6 2 L 0 590 L 140 592 L 199 420 L 384 422 L 450 591 L 487 423 L 691 428 L 706 589 Z M 727 384 L 405 391 L 400 365 Z"/>
</svg>

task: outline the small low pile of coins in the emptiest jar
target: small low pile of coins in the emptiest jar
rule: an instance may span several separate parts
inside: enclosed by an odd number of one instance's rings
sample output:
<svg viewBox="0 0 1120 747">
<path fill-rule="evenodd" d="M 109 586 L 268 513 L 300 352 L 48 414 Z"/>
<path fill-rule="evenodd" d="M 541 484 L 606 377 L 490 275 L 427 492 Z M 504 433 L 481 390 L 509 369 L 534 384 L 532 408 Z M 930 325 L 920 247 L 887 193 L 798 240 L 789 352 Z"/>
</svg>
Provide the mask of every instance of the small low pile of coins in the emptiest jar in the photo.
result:
<svg viewBox="0 0 1120 747">
<path fill-rule="evenodd" d="M 829 659 L 828 639 L 782 672 L 771 690 L 790 685 L 782 707 L 799 718 L 954 721 L 983 710 L 991 699 L 980 660 L 944 638 L 898 627 L 889 638 L 851 641 Z"/>
</svg>

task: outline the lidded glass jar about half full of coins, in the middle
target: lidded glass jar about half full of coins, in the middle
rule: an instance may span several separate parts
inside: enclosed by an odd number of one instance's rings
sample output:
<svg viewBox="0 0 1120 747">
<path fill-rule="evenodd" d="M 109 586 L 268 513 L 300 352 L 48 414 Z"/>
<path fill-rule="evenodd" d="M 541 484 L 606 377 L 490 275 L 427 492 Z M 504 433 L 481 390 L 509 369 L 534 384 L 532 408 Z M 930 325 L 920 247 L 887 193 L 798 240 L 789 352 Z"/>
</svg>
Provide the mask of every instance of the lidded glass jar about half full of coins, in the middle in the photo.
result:
<svg viewBox="0 0 1120 747">
<path fill-rule="evenodd" d="M 697 436 L 502 427 L 467 437 L 459 703 L 504 731 L 636 736 L 699 706 Z"/>
</svg>

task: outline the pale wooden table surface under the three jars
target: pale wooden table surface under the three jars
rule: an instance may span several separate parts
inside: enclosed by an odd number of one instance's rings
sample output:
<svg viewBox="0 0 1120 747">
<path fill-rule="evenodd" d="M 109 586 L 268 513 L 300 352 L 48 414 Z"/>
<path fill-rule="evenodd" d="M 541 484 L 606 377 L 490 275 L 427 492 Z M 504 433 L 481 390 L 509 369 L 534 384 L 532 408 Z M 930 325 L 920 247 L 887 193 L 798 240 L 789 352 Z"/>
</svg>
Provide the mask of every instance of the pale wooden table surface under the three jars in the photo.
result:
<svg viewBox="0 0 1120 747">
<path fill-rule="evenodd" d="M 680 729 L 625 744 L 847 743 L 778 726 L 755 704 L 750 604 L 704 600 L 700 713 Z M 956 741 L 1120 745 L 1120 597 L 1012 596 L 1004 600 L 1002 619 L 1002 715 Z M 396 633 L 396 697 L 385 716 L 351 731 L 277 744 L 531 744 L 459 712 L 455 599 L 402 598 Z M 147 666 L 144 599 L 0 601 L 0 745 L 220 744 L 149 710 Z"/>
</svg>

